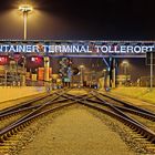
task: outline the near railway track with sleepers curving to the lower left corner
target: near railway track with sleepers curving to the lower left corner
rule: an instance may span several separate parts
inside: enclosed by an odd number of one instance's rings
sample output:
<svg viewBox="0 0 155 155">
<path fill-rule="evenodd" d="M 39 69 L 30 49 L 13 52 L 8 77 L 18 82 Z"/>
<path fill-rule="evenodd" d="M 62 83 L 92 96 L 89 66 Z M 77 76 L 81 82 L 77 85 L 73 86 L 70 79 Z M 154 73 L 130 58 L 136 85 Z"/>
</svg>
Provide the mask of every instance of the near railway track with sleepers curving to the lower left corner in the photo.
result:
<svg viewBox="0 0 155 155">
<path fill-rule="evenodd" d="M 41 117 L 56 112 L 63 107 L 71 106 L 78 101 L 83 100 L 84 96 L 69 96 L 68 91 L 55 92 L 53 97 L 50 101 L 43 102 L 42 104 L 24 104 L 27 107 L 20 105 L 20 110 L 12 107 L 12 111 L 6 111 L 1 113 L 1 117 L 12 117 L 18 115 L 13 121 L 9 122 L 8 125 L 0 130 L 0 153 L 8 153 L 12 148 L 12 141 L 17 142 L 14 137 L 19 137 L 19 134 L 24 132 L 24 128 L 39 121 Z M 49 97 L 49 96 L 48 96 Z M 74 97 L 74 100 L 73 100 Z M 40 99 L 41 100 L 41 99 Z M 35 102 L 35 101 L 34 101 Z M 59 104 L 58 104 L 59 103 Z M 28 106 L 29 105 L 29 106 Z M 30 110 L 30 111 L 29 111 Z M 20 112 L 19 112 L 20 111 Z M 27 112 L 27 114 L 25 114 Z M 20 115 L 19 115 L 20 113 Z M 22 115 L 21 115 L 22 114 Z M 6 121 L 3 118 L 2 121 Z M 13 138 L 13 140 L 12 140 Z"/>
</svg>

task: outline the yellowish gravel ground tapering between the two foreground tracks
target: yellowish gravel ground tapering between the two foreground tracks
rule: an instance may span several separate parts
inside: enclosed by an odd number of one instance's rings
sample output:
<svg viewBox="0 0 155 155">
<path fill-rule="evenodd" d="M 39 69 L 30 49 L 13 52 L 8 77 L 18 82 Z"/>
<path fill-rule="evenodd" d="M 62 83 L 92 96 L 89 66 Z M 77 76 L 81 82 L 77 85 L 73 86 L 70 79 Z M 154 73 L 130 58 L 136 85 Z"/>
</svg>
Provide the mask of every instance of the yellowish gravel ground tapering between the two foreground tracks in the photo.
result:
<svg viewBox="0 0 155 155">
<path fill-rule="evenodd" d="M 134 155 L 121 137 L 85 108 L 55 117 L 20 155 Z"/>
</svg>

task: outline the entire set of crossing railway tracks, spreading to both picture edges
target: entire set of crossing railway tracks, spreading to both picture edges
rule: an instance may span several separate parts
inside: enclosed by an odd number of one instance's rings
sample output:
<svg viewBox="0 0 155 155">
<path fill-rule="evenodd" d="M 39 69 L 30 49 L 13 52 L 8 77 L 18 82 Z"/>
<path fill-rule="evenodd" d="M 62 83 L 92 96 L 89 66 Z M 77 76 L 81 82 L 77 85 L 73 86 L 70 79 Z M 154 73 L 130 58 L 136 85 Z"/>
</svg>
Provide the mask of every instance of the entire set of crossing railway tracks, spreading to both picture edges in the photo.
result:
<svg viewBox="0 0 155 155">
<path fill-rule="evenodd" d="M 155 154 L 155 113 L 112 96 L 107 100 L 108 96 L 105 97 L 104 94 L 97 91 L 86 90 L 87 93 L 82 95 L 73 95 L 69 91 L 59 91 L 52 95 L 48 94 L 43 99 L 39 97 L 22 103 L 19 107 L 0 112 L 2 122 L 8 117 L 11 118 L 11 121 L 0 127 L 0 152 L 10 149 L 8 146 L 10 146 L 12 137 L 13 140 L 18 137 L 19 133 L 22 133 L 27 126 L 30 126 L 40 117 L 80 103 L 125 124 L 133 138 L 144 143 L 143 145 L 148 153 Z M 41 100 L 42 102 L 40 103 L 39 101 Z"/>
</svg>

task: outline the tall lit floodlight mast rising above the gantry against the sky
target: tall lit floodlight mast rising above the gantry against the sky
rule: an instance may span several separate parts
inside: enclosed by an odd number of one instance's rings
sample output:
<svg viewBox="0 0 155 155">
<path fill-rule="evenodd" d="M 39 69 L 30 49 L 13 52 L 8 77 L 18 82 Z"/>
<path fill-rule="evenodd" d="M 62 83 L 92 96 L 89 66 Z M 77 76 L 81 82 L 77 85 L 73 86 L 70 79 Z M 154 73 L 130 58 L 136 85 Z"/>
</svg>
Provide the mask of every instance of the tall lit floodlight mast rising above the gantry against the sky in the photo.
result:
<svg viewBox="0 0 155 155">
<path fill-rule="evenodd" d="M 29 4 L 22 4 L 19 7 L 19 10 L 23 13 L 23 39 L 27 40 L 27 19 L 28 13 L 33 10 L 33 8 Z"/>
</svg>

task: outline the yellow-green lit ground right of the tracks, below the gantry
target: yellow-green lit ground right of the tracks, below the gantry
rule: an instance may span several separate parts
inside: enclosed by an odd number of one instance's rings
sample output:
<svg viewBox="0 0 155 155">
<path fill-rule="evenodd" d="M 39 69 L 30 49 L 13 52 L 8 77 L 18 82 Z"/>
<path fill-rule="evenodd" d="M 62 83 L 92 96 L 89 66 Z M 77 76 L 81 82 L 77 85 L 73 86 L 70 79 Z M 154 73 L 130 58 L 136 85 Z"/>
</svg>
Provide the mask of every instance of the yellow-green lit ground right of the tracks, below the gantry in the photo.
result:
<svg viewBox="0 0 155 155">
<path fill-rule="evenodd" d="M 110 92 L 104 90 L 100 90 L 100 92 L 155 112 L 155 90 L 149 91 L 147 87 L 116 87 Z"/>
</svg>

